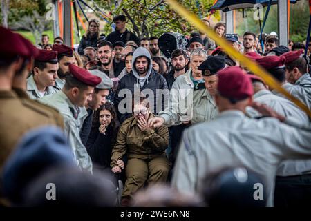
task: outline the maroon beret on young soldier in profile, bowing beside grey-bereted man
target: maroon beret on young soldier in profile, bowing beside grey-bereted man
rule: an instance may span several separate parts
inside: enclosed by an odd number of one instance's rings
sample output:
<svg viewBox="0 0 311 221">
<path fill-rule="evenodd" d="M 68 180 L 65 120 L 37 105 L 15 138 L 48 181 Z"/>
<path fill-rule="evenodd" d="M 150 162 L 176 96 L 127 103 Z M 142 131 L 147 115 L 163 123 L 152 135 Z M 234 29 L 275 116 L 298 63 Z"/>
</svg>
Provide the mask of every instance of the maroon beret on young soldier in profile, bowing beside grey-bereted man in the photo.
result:
<svg viewBox="0 0 311 221">
<path fill-rule="evenodd" d="M 81 81 L 84 84 L 87 84 L 88 86 L 95 87 L 97 86 L 97 84 L 100 84 L 100 82 L 102 81 L 100 77 L 92 75 L 91 73 L 88 72 L 88 70 L 79 68 L 78 66 L 75 66 L 74 64 L 69 65 L 69 71 L 70 71 L 70 74 L 72 74 L 79 81 Z"/>
</svg>

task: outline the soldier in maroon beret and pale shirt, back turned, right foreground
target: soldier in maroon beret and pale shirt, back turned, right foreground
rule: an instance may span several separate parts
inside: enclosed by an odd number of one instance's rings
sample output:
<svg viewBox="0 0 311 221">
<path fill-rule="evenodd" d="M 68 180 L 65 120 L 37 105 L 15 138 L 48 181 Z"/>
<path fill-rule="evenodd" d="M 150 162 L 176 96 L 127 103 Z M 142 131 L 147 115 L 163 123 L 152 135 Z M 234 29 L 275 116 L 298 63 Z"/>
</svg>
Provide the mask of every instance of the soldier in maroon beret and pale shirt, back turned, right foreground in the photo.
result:
<svg viewBox="0 0 311 221">
<path fill-rule="evenodd" d="M 311 129 L 287 125 L 292 123 L 290 119 L 262 104 L 252 106 L 276 119 L 246 117 L 253 88 L 241 68 L 225 68 L 218 79 L 216 105 L 220 114 L 184 131 L 172 185 L 182 193 L 194 193 L 205 185 L 202 179 L 211 171 L 228 165 L 247 166 L 263 177 L 267 206 L 273 206 L 276 169 L 282 160 L 311 157 Z"/>
</svg>

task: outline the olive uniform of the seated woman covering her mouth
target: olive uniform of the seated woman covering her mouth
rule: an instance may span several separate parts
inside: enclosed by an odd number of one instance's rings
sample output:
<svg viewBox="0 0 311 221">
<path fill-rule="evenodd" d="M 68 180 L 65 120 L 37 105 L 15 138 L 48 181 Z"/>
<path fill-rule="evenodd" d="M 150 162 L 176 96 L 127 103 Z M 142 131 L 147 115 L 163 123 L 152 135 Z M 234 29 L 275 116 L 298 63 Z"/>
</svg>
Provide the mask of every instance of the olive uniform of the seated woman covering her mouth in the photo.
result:
<svg viewBox="0 0 311 221">
<path fill-rule="evenodd" d="M 150 117 L 153 117 L 151 115 Z M 122 197 L 132 197 L 145 182 L 166 182 L 169 161 L 164 150 L 169 145 L 169 131 L 166 126 L 140 131 L 134 117 L 126 119 L 117 134 L 112 151 L 111 167 L 126 153 L 126 182 Z"/>
</svg>

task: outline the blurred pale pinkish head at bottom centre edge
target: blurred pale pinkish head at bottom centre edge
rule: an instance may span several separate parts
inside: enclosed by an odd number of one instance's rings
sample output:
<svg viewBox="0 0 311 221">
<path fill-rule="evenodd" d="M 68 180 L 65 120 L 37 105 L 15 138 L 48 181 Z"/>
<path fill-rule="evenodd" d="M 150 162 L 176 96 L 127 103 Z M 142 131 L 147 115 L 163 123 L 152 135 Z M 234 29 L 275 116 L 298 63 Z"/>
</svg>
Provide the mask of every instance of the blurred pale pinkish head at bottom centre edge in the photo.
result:
<svg viewBox="0 0 311 221">
<path fill-rule="evenodd" d="M 154 184 L 138 191 L 132 200 L 134 207 L 196 207 L 204 206 L 197 195 L 183 195 L 171 186 Z"/>
</svg>

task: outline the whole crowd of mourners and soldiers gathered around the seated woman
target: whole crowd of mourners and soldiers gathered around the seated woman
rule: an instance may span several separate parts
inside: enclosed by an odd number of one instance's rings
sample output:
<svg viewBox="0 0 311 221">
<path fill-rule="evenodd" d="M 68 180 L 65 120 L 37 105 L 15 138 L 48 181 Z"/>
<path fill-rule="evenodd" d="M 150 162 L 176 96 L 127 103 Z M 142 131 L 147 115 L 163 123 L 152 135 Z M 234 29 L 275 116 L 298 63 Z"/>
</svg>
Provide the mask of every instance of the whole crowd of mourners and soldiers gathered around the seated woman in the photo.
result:
<svg viewBox="0 0 311 221">
<path fill-rule="evenodd" d="M 311 205 L 308 113 L 205 33 L 113 23 L 76 50 L 0 28 L 2 206 Z M 310 110 L 303 42 L 214 31 Z"/>
</svg>

